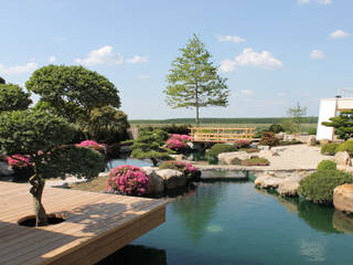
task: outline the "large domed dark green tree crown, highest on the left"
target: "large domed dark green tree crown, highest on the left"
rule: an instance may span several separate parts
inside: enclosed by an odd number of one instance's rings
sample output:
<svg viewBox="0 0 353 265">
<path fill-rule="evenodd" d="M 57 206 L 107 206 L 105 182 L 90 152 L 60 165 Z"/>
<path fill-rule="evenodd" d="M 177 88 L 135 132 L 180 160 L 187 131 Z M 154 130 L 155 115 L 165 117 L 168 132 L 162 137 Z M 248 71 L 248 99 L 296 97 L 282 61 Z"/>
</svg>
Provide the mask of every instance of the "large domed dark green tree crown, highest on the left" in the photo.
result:
<svg viewBox="0 0 353 265">
<path fill-rule="evenodd" d="M 86 125 L 94 108 L 120 107 L 120 98 L 115 85 L 105 76 L 83 66 L 41 67 L 32 74 L 25 86 L 41 96 L 42 108 L 50 107 L 69 123 Z"/>
</svg>

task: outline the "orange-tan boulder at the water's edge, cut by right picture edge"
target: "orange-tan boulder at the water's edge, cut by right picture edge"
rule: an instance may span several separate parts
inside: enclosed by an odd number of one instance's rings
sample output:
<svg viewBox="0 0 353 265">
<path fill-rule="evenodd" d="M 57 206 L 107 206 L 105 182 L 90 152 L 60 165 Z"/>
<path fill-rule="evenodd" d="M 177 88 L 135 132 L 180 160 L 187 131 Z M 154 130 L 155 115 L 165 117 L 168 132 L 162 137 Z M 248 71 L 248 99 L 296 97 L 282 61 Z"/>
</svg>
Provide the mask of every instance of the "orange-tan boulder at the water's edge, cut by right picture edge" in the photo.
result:
<svg viewBox="0 0 353 265">
<path fill-rule="evenodd" d="M 333 205 L 339 211 L 353 213 L 353 184 L 343 184 L 334 188 Z"/>
</svg>

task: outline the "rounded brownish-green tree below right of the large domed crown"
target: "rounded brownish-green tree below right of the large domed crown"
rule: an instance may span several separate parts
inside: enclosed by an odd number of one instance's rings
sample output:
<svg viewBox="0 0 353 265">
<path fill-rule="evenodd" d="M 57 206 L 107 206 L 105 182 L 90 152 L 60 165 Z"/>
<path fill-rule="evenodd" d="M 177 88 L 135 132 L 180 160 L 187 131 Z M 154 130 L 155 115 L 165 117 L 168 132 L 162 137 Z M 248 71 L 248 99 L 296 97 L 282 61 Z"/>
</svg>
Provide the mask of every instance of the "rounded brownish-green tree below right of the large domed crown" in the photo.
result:
<svg viewBox="0 0 353 265">
<path fill-rule="evenodd" d="M 92 110 L 87 134 L 97 142 L 111 145 L 126 140 L 129 127 L 127 115 L 124 112 L 104 106 Z"/>
</svg>

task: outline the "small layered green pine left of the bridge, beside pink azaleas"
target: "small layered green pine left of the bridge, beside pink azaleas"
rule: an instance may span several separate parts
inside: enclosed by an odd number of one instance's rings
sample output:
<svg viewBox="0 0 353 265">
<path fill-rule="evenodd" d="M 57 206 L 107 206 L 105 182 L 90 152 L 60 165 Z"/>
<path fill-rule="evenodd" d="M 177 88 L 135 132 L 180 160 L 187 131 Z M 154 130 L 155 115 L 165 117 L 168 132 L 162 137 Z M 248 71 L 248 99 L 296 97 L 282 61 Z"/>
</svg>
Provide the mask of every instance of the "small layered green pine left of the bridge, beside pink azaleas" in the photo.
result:
<svg viewBox="0 0 353 265">
<path fill-rule="evenodd" d="M 163 130 L 142 130 L 139 137 L 131 146 L 131 157 L 137 159 L 150 159 L 154 167 L 158 160 L 170 159 L 169 155 L 174 153 L 172 150 L 163 148 L 168 134 Z"/>
</svg>

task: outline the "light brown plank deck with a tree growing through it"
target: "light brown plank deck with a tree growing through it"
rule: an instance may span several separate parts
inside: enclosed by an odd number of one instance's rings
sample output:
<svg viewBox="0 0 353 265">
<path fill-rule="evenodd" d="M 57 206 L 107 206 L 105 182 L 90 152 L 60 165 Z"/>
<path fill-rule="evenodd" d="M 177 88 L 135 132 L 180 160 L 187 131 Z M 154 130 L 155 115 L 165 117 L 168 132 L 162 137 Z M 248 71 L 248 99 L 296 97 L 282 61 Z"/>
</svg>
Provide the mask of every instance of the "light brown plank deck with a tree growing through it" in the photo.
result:
<svg viewBox="0 0 353 265">
<path fill-rule="evenodd" d="M 95 264 L 165 221 L 162 200 L 46 187 L 46 212 L 66 221 L 20 226 L 33 215 L 29 188 L 0 181 L 0 264 Z"/>
</svg>

